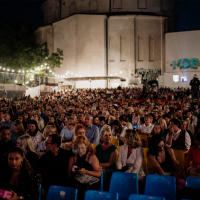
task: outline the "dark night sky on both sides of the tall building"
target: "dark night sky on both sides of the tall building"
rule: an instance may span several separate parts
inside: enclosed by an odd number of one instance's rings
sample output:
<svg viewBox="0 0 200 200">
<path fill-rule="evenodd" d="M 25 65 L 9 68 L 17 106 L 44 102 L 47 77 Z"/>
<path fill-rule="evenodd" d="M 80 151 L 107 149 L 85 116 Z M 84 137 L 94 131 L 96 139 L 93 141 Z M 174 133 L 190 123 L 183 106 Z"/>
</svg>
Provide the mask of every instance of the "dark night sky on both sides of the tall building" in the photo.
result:
<svg viewBox="0 0 200 200">
<path fill-rule="evenodd" d="M 45 0 L 0 0 L 0 21 L 26 19 L 34 29 L 43 25 L 40 9 Z M 150 1 L 150 0 L 149 0 Z M 200 30 L 200 0 L 179 0 L 177 5 L 177 31 Z"/>
</svg>

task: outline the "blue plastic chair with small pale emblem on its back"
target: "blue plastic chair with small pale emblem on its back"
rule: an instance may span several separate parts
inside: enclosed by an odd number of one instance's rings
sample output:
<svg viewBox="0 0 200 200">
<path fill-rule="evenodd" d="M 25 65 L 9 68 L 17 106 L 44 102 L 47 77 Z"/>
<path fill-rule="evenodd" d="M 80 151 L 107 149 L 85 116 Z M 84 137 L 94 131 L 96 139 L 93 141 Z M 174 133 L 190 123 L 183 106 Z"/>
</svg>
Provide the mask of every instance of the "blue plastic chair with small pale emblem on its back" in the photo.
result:
<svg viewBox="0 0 200 200">
<path fill-rule="evenodd" d="M 77 200 L 78 190 L 70 187 L 51 185 L 46 200 Z"/>
</svg>

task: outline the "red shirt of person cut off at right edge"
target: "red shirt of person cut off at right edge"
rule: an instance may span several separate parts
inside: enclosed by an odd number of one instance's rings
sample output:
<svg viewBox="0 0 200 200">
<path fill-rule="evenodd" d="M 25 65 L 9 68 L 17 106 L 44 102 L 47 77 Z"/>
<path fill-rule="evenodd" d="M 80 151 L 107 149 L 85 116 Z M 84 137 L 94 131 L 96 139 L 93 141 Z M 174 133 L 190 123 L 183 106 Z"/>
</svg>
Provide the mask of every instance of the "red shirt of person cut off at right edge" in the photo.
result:
<svg viewBox="0 0 200 200">
<path fill-rule="evenodd" d="M 185 160 L 185 168 L 188 169 L 190 166 L 190 162 L 192 161 L 192 165 L 200 165 L 200 149 L 192 146 L 189 149 L 187 158 Z"/>
</svg>

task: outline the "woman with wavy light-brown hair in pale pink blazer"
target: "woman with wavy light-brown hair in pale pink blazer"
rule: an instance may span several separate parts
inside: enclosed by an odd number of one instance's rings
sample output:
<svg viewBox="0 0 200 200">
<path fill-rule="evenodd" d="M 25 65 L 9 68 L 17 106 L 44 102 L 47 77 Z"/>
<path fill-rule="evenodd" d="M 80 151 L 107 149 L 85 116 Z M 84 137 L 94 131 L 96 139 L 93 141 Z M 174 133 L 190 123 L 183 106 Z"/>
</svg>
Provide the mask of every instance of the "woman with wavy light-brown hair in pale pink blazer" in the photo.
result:
<svg viewBox="0 0 200 200">
<path fill-rule="evenodd" d="M 138 133 L 135 130 L 127 129 L 124 143 L 126 143 L 126 145 L 120 148 L 117 169 L 138 174 L 139 183 L 144 183 L 145 173 L 142 167 L 144 153 Z"/>
</svg>

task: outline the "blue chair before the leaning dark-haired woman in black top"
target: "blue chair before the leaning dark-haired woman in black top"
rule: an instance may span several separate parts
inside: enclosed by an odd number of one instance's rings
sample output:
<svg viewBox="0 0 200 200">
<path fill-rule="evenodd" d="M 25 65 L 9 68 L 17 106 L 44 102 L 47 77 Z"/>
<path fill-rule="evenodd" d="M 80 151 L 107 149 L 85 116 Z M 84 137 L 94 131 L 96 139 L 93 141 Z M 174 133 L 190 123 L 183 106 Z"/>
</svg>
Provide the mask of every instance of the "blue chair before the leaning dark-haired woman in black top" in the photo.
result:
<svg viewBox="0 0 200 200">
<path fill-rule="evenodd" d="M 148 174 L 144 194 L 148 196 L 165 197 L 166 200 L 176 200 L 175 177 Z"/>
</svg>

